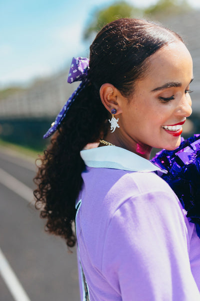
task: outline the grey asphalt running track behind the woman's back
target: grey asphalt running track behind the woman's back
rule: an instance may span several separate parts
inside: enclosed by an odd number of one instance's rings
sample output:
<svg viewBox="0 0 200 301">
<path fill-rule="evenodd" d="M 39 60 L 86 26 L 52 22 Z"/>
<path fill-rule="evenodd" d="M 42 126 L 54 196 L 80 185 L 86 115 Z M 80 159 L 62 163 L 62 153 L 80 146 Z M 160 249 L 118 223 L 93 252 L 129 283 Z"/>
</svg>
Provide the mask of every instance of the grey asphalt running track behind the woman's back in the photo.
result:
<svg viewBox="0 0 200 301">
<path fill-rule="evenodd" d="M 25 200 L 34 174 L 32 162 L 0 149 L 0 249 L 27 294 L 24 301 L 78 301 L 75 248 L 69 254 L 61 238 L 46 234 L 39 212 Z M 0 265 L 4 273 L 2 259 Z M 11 292 L 10 275 L 8 282 L 0 277 L 0 301 L 22 301 Z"/>
</svg>

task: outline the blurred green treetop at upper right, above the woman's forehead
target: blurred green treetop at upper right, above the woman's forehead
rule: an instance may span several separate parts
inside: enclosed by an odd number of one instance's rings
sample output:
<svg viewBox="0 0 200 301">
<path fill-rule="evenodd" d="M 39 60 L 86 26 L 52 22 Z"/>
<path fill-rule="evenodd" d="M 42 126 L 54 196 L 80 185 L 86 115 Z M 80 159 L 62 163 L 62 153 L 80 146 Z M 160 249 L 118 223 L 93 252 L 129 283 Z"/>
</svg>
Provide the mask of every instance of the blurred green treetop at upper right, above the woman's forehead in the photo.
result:
<svg viewBox="0 0 200 301">
<path fill-rule="evenodd" d="M 169 16 L 191 10 L 187 0 L 159 0 L 156 4 L 144 10 L 144 16 Z"/>
</svg>

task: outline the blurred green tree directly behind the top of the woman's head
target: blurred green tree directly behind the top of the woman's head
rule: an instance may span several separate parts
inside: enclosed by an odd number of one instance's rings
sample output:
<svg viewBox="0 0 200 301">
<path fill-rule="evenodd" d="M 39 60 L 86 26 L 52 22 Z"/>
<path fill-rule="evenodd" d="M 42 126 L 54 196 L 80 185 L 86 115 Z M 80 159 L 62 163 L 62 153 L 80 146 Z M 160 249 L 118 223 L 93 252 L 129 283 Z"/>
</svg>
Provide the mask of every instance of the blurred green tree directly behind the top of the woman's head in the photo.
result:
<svg viewBox="0 0 200 301">
<path fill-rule="evenodd" d="M 97 33 L 107 23 L 119 18 L 131 18 L 138 16 L 141 10 L 128 4 L 125 1 L 120 1 L 111 6 L 94 11 L 92 20 L 86 27 L 83 33 L 83 39 L 89 39 L 94 33 Z"/>
</svg>

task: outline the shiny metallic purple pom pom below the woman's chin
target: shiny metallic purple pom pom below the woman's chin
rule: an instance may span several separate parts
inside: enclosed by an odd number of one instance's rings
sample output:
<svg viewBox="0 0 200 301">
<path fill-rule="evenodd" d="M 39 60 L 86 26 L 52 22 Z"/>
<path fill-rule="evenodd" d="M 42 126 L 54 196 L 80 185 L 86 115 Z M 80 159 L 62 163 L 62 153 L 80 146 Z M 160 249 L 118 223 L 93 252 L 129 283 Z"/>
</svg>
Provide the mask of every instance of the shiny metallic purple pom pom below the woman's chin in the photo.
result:
<svg viewBox="0 0 200 301">
<path fill-rule="evenodd" d="M 161 178 L 177 195 L 200 238 L 200 135 L 182 140 L 175 150 L 161 150 L 151 161 L 167 170 Z"/>
</svg>

